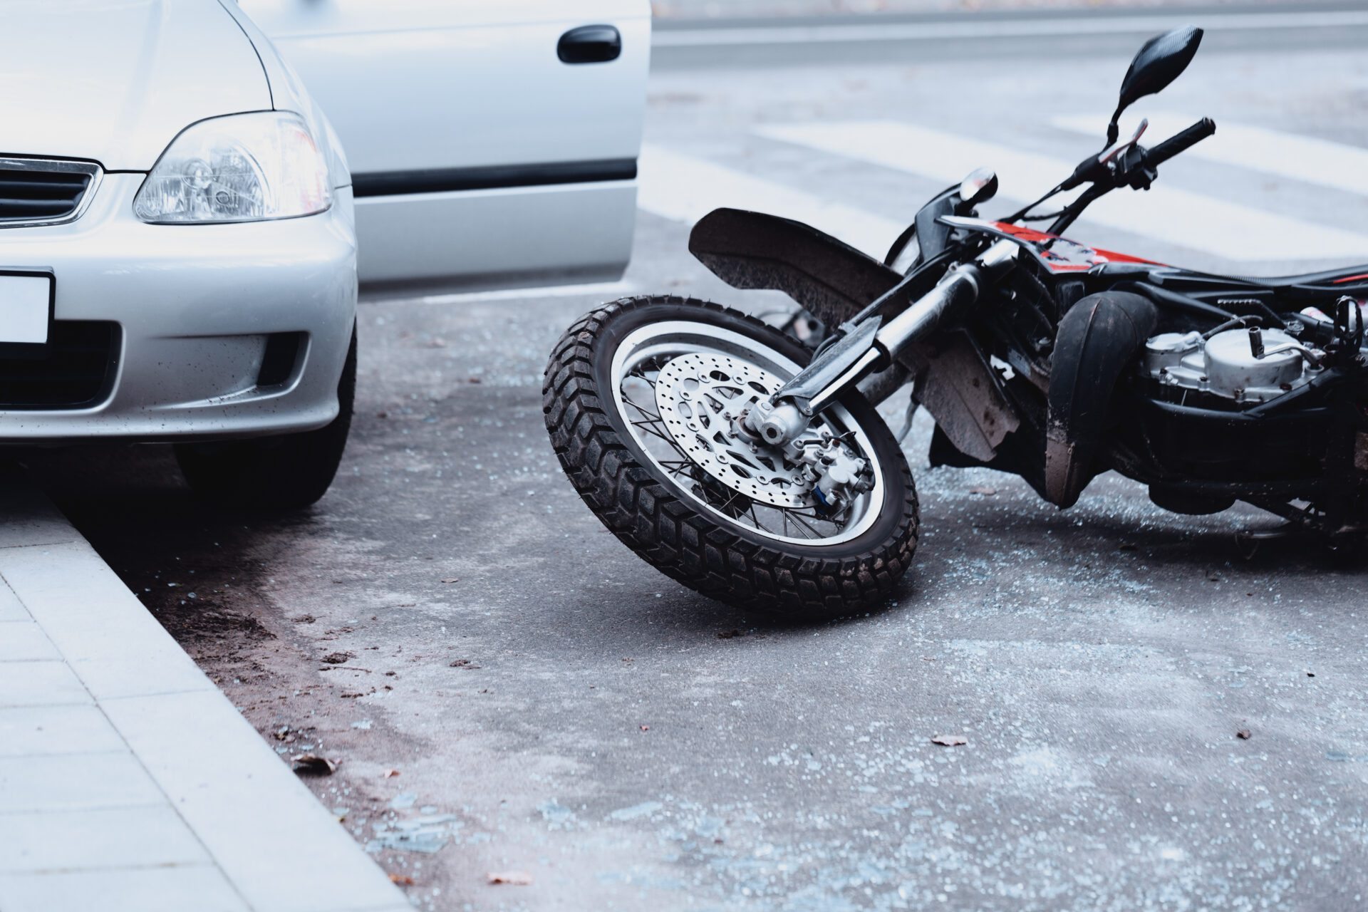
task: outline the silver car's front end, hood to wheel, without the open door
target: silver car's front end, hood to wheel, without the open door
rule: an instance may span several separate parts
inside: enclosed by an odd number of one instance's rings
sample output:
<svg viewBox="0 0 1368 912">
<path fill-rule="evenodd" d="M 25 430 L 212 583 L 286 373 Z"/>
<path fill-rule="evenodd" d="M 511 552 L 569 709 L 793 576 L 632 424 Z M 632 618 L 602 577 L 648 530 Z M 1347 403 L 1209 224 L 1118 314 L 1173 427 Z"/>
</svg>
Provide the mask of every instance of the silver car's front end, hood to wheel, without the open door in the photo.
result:
<svg viewBox="0 0 1368 912">
<path fill-rule="evenodd" d="M 198 492 L 316 500 L 356 380 L 339 144 L 224 0 L 7 0 L 0 442 L 175 442 Z"/>
</svg>

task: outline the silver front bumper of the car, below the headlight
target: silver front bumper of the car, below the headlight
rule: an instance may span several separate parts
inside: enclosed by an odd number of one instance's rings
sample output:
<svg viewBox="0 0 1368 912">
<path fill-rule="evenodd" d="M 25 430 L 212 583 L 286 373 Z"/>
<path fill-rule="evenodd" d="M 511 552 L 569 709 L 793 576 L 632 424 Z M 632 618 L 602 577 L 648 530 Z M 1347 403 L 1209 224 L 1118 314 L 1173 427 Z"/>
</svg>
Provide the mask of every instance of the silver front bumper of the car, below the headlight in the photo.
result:
<svg viewBox="0 0 1368 912">
<path fill-rule="evenodd" d="M 0 230 L 0 269 L 52 273 L 55 328 L 104 324 L 111 339 L 92 399 L 34 405 L 0 388 L 0 443 L 205 440 L 328 424 L 356 317 L 350 189 L 315 216 L 164 226 L 133 215 L 142 178 L 105 174 L 70 224 Z M 295 346 L 287 369 L 279 357 L 264 368 L 272 334 Z M 261 383 L 264 371 L 274 383 Z"/>
</svg>

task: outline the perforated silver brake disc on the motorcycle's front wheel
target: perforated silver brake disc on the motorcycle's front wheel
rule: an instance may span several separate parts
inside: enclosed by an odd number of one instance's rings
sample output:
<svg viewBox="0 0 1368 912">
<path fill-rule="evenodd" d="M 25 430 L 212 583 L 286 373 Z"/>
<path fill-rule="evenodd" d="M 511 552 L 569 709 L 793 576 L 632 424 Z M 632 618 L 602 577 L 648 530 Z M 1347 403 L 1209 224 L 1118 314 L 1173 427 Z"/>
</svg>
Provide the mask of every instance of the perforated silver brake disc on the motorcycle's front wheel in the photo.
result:
<svg viewBox="0 0 1368 912">
<path fill-rule="evenodd" d="M 720 484 L 776 507 L 813 505 L 795 465 L 737 425 L 761 397 L 784 386 L 773 373 L 725 354 L 681 354 L 655 380 L 655 407 L 674 443 Z"/>
</svg>

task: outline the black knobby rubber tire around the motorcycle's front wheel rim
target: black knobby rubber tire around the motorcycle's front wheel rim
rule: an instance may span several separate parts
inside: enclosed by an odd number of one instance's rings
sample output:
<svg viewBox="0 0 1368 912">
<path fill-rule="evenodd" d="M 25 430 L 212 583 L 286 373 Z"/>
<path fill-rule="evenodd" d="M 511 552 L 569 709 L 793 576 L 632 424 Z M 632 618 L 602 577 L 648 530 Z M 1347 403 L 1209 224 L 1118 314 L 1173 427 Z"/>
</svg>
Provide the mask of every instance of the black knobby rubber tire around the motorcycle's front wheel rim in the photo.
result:
<svg viewBox="0 0 1368 912">
<path fill-rule="evenodd" d="M 806 619 L 886 604 L 917 550 L 917 489 L 902 447 L 859 394 L 840 402 L 884 466 L 884 500 L 871 528 L 850 541 L 811 547 L 748 535 L 655 473 L 613 405 L 613 354 L 631 331 L 681 319 L 740 332 L 796 364 L 811 360 L 810 349 L 778 330 L 694 298 L 622 298 L 590 312 L 555 345 L 542 387 L 551 446 L 576 491 L 642 559 L 720 602 Z"/>
</svg>

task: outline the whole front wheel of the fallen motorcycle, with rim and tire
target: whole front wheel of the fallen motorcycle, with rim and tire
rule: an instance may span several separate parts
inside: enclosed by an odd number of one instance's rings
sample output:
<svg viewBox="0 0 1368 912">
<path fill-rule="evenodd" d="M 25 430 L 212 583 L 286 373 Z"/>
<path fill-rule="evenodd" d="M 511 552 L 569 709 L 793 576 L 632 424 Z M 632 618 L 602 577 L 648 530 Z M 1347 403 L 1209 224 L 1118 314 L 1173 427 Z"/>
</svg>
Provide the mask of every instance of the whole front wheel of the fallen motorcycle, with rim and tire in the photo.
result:
<svg viewBox="0 0 1368 912">
<path fill-rule="evenodd" d="M 542 390 L 561 466 L 642 559 L 740 608 L 804 618 L 886 604 L 917 548 L 917 491 L 876 409 L 850 392 L 813 423 L 860 483 L 837 499 L 739 416 L 811 350 L 737 310 L 679 297 L 607 304 L 557 343 Z"/>
</svg>

